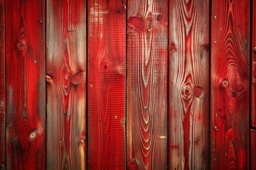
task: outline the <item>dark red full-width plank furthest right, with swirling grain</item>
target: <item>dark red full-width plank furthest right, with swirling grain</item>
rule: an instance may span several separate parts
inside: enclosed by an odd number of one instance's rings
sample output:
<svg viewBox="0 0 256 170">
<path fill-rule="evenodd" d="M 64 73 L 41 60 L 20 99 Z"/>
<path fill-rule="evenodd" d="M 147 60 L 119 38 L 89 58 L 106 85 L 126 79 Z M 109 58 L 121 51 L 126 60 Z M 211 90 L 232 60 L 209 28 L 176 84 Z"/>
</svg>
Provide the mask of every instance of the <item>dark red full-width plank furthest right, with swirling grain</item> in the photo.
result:
<svg viewBox="0 0 256 170">
<path fill-rule="evenodd" d="M 250 1 L 212 1 L 210 168 L 249 169 Z"/>
</svg>

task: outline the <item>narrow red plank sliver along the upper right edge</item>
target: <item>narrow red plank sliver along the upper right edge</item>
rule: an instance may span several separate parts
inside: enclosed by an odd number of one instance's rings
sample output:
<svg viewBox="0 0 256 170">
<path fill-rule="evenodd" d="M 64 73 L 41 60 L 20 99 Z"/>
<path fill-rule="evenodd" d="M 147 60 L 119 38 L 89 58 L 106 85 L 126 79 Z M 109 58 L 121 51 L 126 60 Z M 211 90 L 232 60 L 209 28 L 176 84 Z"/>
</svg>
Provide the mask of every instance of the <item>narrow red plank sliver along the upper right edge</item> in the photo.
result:
<svg viewBox="0 0 256 170">
<path fill-rule="evenodd" d="M 252 0 L 252 52 L 251 52 L 251 62 L 252 62 L 252 70 L 251 70 L 251 79 L 252 82 L 250 84 L 251 86 L 251 120 L 250 120 L 250 125 L 252 127 L 256 127 L 256 1 Z"/>
</svg>

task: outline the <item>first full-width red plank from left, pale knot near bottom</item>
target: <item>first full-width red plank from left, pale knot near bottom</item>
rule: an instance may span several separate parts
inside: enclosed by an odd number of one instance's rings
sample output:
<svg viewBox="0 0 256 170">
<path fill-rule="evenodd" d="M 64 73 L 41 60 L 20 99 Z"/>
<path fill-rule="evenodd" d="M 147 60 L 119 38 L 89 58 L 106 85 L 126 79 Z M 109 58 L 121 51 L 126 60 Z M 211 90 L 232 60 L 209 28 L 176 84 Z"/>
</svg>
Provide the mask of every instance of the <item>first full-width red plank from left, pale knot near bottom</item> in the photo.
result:
<svg viewBox="0 0 256 170">
<path fill-rule="evenodd" d="M 45 169 L 44 1 L 6 2 L 6 169 Z"/>
</svg>

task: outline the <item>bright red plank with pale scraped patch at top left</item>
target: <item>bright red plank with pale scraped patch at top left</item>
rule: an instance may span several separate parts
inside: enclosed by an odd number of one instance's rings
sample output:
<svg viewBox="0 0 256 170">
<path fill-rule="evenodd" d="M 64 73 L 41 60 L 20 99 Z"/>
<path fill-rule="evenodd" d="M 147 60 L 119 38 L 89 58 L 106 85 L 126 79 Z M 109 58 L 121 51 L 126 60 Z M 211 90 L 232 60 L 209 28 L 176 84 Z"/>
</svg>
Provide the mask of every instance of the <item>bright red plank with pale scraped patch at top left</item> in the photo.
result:
<svg viewBox="0 0 256 170">
<path fill-rule="evenodd" d="M 125 0 L 88 1 L 90 169 L 125 168 Z"/>
</svg>

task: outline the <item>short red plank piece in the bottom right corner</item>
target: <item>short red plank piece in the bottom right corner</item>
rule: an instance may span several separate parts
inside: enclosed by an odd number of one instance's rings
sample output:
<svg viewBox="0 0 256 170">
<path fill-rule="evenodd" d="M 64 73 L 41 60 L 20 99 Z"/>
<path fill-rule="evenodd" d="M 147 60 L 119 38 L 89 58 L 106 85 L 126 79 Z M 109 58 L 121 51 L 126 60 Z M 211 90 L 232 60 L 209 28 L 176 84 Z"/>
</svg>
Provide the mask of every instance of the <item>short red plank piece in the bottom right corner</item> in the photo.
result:
<svg viewBox="0 0 256 170">
<path fill-rule="evenodd" d="M 250 169 L 256 169 L 256 130 L 250 130 Z"/>
</svg>

